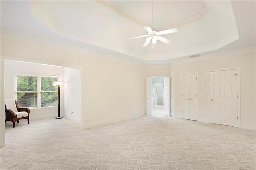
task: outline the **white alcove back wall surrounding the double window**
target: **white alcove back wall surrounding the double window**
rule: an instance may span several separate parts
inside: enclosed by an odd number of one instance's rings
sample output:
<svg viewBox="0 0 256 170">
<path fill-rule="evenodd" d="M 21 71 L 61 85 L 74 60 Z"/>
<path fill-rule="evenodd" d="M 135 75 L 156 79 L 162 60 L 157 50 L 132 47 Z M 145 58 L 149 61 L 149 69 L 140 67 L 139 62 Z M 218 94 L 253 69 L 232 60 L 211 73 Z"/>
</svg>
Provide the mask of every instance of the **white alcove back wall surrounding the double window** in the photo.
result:
<svg viewBox="0 0 256 170">
<path fill-rule="evenodd" d="M 15 97 L 15 79 L 14 73 L 28 74 L 53 74 L 60 75 L 60 80 L 64 77 L 64 67 L 55 67 L 49 65 L 40 65 L 38 63 L 24 63 L 14 60 L 4 60 L 4 99 L 12 99 Z M 62 92 L 62 91 L 61 91 Z M 64 97 L 61 96 L 61 101 Z M 61 105 L 63 108 L 63 105 Z M 54 118 L 58 116 L 58 107 L 30 109 L 30 120 Z"/>
</svg>

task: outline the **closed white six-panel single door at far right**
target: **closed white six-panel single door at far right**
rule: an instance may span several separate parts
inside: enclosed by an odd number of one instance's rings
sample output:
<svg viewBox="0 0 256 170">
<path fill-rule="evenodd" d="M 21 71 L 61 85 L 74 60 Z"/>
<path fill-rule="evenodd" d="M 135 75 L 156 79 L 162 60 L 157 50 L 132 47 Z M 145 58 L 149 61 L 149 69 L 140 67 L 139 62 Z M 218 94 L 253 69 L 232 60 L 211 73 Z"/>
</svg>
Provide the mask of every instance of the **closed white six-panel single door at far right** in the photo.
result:
<svg viewBox="0 0 256 170">
<path fill-rule="evenodd" d="M 210 122 L 237 127 L 237 70 L 210 72 Z"/>
</svg>

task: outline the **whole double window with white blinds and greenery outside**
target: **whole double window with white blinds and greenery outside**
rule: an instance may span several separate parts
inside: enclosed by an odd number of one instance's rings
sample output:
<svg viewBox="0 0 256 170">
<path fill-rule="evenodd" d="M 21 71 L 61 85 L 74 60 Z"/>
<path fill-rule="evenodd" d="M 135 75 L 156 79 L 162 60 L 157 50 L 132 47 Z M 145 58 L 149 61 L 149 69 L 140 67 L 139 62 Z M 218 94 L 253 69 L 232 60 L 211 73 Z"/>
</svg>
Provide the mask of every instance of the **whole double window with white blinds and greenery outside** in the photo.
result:
<svg viewBox="0 0 256 170">
<path fill-rule="evenodd" d="M 20 107 L 53 107 L 58 105 L 58 87 L 52 81 L 58 76 L 16 75 L 16 99 Z"/>
</svg>

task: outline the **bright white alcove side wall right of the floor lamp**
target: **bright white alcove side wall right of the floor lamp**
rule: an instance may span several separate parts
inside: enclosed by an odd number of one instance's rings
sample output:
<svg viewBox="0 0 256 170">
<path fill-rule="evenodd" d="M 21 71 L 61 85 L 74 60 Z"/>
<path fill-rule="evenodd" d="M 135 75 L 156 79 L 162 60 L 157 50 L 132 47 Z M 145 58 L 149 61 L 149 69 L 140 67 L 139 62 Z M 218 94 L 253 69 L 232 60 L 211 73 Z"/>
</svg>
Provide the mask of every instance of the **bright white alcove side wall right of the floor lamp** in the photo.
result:
<svg viewBox="0 0 256 170">
<path fill-rule="evenodd" d="M 64 117 L 81 122 L 81 69 L 64 67 Z"/>
</svg>

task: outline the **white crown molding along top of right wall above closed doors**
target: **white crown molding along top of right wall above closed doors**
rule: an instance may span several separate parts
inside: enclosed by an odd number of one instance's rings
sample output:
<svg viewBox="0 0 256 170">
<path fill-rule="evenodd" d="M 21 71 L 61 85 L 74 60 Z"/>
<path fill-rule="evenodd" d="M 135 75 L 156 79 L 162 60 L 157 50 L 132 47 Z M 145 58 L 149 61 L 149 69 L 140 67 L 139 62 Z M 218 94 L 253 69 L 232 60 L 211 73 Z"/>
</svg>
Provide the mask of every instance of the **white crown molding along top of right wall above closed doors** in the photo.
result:
<svg viewBox="0 0 256 170">
<path fill-rule="evenodd" d="M 184 59 L 184 60 L 180 60 L 180 61 L 172 61 L 170 64 L 179 65 L 179 64 L 184 64 L 184 63 L 193 63 L 193 62 L 197 62 L 197 61 L 229 57 L 229 56 L 233 56 L 233 55 L 240 55 L 240 54 L 253 53 L 253 52 L 256 52 L 256 47 L 248 47 L 248 48 L 224 51 L 224 52 L 220 52 L 220 53 L 202 55 L 202 56 L 196 57 L 196 58 L 189 58 L 189 59 Z"/>
</svg>

